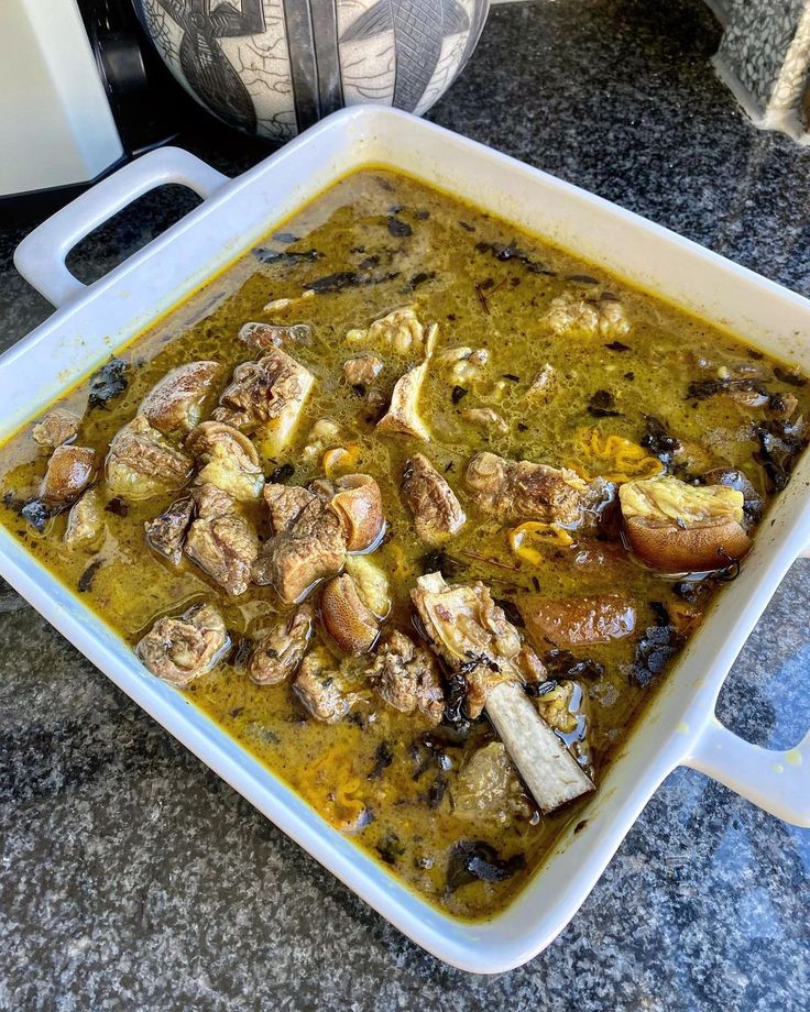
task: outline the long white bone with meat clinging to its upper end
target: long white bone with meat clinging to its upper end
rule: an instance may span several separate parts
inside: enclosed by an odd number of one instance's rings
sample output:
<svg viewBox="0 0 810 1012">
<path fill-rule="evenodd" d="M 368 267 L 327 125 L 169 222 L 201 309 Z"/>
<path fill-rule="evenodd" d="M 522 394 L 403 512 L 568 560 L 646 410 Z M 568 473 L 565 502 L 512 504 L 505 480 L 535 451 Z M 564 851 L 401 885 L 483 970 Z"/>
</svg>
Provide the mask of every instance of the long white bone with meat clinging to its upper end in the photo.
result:
<svg viewBox="0 0 810 1012">
<path fill-rule="evenodd" d="M 544 814 L 593 790 L 593 781 L 523 689 L 526 648 L 483 584 L 420 576 L 411 593 L 431 646 L 453 671 L 489 670 L 486 715 Z"/>
</svg>

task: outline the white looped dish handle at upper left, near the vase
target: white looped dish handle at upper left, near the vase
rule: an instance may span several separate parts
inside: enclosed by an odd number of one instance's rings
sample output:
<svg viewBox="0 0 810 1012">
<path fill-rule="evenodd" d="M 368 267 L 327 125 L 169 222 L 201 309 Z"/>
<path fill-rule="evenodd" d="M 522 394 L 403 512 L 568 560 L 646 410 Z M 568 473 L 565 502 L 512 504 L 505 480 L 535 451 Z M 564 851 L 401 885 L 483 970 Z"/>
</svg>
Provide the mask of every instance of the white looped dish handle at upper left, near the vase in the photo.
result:
<svg viewBox="0 0 810 1012">
<path fill-rule="evenodd" d="M 70 250 L 127 205 L 157 186 L 187 186 L 207 200 L 228 176 L 179 147 L 161 147 L 86 190 L 37 226 L 14 253 L 14 265 L 26 282 L 57 308 L 87 290 L 67 270 Z"/>
</svg>

